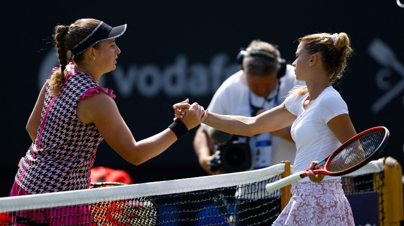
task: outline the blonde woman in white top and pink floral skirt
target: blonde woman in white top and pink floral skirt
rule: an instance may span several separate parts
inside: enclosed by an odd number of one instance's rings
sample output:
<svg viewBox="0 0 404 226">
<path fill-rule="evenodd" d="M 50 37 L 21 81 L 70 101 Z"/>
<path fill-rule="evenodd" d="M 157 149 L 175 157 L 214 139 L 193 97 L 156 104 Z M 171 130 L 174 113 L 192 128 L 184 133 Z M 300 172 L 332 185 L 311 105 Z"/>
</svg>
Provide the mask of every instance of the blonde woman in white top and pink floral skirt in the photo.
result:
<svg viewBox="0 0 404 226">
<path fill-rule="evenodd" d="M 296 143 L 294 172 L 311 168 L 342 143 L 356 135 L 348 108 L 333 84 L 342 77 L 352 49 L 346 33 L 317 33 L 298 39 L 293 62 L 298 81 L 306 86 L 293 88 L 285 101 L 256 117 L 223 116 L 206 110 L 203 122 L 221 131 L 243 136 L 271 132 L 290 124 Z M 190 107 L 173 105 L 175 117 L 182 119 Z M 310 180 L 309 180 L 310 178 Z M 341 178 L 316 175 L 291 185 L 292 197 L 278 218 L 279 225 L 355 225 L 350 205 L 343 193 Z"/>
</svg>

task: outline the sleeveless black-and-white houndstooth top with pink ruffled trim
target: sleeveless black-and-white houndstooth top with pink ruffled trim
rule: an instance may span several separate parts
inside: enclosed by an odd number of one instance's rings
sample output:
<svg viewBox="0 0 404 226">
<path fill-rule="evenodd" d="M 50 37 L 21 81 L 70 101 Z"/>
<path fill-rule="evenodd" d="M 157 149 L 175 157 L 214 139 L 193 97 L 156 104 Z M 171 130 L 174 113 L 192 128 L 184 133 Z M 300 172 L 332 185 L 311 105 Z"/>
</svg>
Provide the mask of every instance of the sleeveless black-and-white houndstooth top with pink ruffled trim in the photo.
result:
<svg viewBox="0 0 404 226">
<path fill-rule="evenodd" d="M 55 69 L 54 69 L 55 70 Z M 17 184 L 30 194 L 86 189 L 98 144 L 103 140 L 95 125 L 81 123 L 76 115 L 80 99 L 113 90 L 98 86 L 92 78 L 66 67 L 67 80 L 62 95 L 46 96 L 37 137 L 19 164 Z"/>
</svg>

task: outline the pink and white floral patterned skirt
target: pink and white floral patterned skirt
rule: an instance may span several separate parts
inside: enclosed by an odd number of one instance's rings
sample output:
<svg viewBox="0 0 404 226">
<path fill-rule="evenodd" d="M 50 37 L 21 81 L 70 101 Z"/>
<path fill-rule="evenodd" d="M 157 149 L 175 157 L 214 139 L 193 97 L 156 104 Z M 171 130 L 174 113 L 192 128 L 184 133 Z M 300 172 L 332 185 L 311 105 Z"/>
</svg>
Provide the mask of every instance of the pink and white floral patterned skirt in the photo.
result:
<svg viewBox="0 0 404 226">
<path fill-rule="evenodd" d="M 340 179 L 295 182 L 292 197 L 273 226 L 355 226 Z"/>
</svg>

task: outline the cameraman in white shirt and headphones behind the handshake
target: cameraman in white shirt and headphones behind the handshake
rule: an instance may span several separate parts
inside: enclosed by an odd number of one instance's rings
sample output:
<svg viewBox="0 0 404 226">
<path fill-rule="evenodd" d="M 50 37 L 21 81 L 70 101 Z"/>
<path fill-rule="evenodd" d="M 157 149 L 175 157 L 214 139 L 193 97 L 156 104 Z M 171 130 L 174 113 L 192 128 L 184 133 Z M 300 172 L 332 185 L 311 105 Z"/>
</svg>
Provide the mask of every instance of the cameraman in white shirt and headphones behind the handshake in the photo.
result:
<svg viewBox="0 0 404 226">
<path fill-rule="evenodd" d="M 251 41 L 240 51 L 237 61 L 241 70 L 219 87 L 207 108 L 209 111 L 256 116 L 282 103 L 295 85 L 305 85 L 296 81 L 294 68 L 285 63 L 277 46 L 270 43 Z M 232 136 L 209 128 L 201 124 L 193 146 L 200 166 L 211 175 L 254 170 L 282 160 L 293 163 L 296 147 L 289 127 L 253 137 Z"/>
</svg>

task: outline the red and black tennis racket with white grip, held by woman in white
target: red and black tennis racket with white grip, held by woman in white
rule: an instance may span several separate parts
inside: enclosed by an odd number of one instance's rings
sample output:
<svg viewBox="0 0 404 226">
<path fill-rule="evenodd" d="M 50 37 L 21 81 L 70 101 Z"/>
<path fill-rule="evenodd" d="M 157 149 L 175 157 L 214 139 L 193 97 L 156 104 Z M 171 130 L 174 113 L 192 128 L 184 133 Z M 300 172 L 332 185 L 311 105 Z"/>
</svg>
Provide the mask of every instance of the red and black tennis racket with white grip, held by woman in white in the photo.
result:
<svg viewBox="0 0 404 226">
<path fill-rule="evenodd" d="M 388 137 L 389 131 L 385 127 L 374 127 L 365 130 L 350 138 L 337 150 L 316 164 L 324 165 L 323 169 L 315 170 L 316 166 L 314 166 L 310 170 L 313 173 L 329 176 L 342 176 L 354 172 L 380 154 L 386 146 Z M 265 189 L 271 193 L 307 177 L 308 171 L 309 169 L 267 184 Z"/>
</svg>

